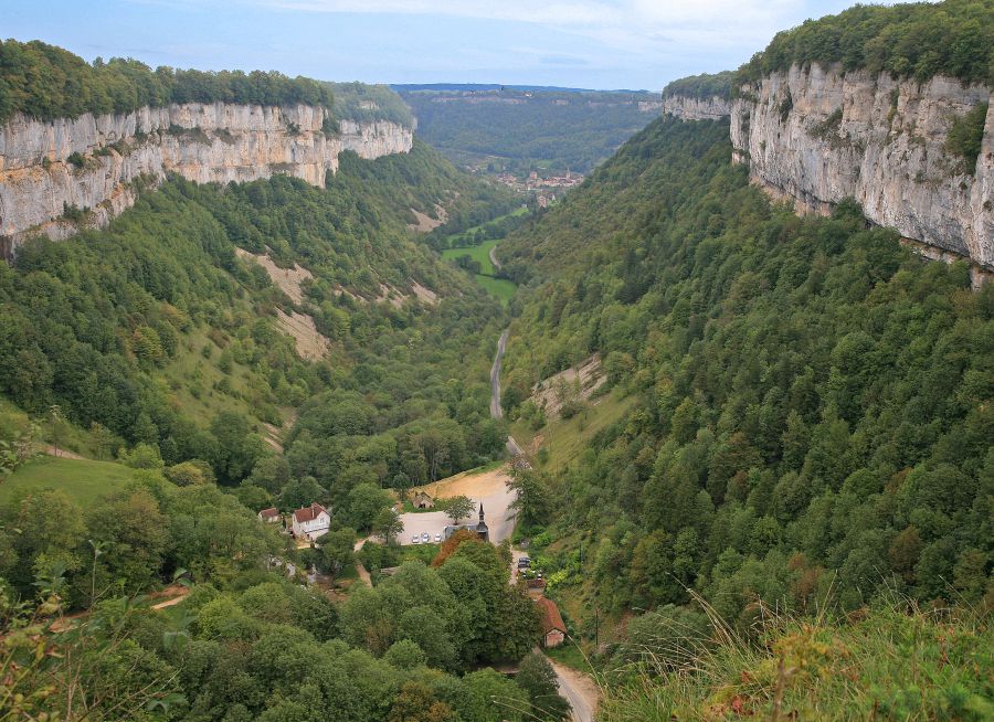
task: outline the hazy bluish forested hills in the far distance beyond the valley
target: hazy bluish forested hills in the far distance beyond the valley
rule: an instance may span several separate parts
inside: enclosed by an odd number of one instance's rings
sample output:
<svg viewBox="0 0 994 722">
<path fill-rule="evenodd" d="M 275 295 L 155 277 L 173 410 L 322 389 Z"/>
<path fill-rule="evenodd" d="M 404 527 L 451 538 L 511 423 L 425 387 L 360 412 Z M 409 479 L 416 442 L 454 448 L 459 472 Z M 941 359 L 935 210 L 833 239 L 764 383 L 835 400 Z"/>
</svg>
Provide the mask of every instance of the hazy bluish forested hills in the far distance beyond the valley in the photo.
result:
<svg viewBox="0 0 994 722">
<path fill-rule="evenodd" d="M 648 93 L 401 91 L 421 137 L 454 162 L 588 172 L 652 119 Z"/>
</svg>

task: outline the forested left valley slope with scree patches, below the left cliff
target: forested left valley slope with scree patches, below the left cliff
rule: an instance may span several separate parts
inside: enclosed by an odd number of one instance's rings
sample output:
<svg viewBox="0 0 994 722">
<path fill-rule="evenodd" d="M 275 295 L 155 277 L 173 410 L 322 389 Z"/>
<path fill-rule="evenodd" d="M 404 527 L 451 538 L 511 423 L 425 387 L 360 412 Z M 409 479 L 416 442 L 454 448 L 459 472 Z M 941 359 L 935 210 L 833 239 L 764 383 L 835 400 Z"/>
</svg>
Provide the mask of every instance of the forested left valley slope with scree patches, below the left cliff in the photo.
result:
<svg viewBox="0 0 994 722">
<path fill-rule="evenodd" d="M 442 200 L 457 213 L 499 202 L 501 191 L 421 144 L 376 161 L 345 153 L 327 180 L 222 189 L 173 179 L 107 231 L 27 243 L 14 267 L 0 266 L 3 394 L 33 415 L 57 405 L 66 421 L 109 436 L 106 455 L 144 444 L 167 465 L 205 460 L 224 484 L 265 456 L 262 425 L 278 427 L 302 406 L 287 435 L 293 478 L 325 490 L 332 479 L 424 481 L 425 469 L 437 478 L 499 454 L 486 364 L 500 310 L 404 224 L 411 208 Z M 299 298 L 245 252 L 306 272 Z M 415 302 L 413 284 L 447 300 Z M 384 289 L 393 301 L 378 300 Z M 313 319 L 322 360 L 300 358 L 279 314 Z M 330 389 L 337 421 L 309 402 L 329 401 L 320 394 Z M 332 444 L 348 452 L 332 454 Z M 432 464 L 438 454 L 445 461 Z"/>
</svg>

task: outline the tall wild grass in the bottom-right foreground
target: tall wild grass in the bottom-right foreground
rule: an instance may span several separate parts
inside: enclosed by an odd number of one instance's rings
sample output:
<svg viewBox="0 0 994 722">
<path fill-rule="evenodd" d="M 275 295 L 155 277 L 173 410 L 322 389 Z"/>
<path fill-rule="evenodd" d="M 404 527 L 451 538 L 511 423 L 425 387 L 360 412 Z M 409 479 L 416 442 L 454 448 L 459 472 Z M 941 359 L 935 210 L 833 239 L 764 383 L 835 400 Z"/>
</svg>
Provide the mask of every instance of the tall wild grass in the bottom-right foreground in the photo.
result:
<svg viewBox="0 0 994 722">
<path fill-rule="evenodd" d="M 898 605 L 774 618 L 759 641 L 719 629 L 690 659 L 649 657 L 609 686 L 603 722 L 994 719 L 990 618 Z"/>
</svg>

